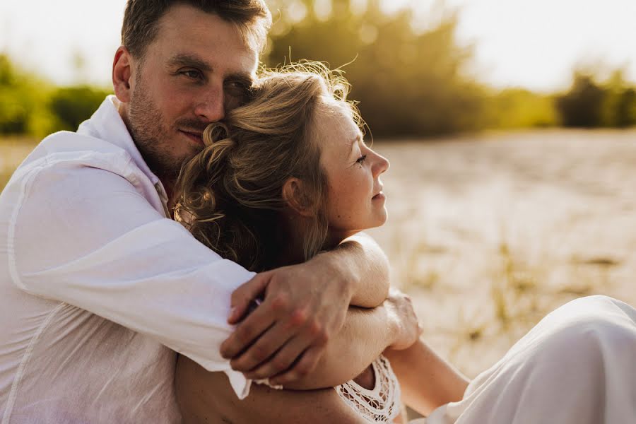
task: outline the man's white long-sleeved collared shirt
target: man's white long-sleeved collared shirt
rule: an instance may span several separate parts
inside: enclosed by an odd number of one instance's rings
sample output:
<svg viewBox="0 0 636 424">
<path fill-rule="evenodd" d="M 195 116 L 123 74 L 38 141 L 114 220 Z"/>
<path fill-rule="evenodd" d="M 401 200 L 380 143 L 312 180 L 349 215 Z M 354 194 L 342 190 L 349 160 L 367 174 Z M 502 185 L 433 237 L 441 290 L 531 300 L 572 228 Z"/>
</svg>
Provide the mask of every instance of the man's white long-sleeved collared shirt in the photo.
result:
<svg viewBox="0 0 636 424">
<path fill-rule="evenodd" d="M 254 275 L 166 215 L 107 98 L 47 137 L 0 196 L 0 423 L 174 423 L 176 354 L 249 380 L 219 346 Z"/>
</svg>

